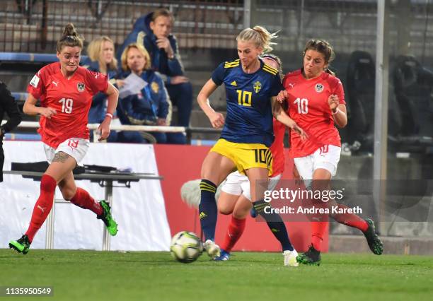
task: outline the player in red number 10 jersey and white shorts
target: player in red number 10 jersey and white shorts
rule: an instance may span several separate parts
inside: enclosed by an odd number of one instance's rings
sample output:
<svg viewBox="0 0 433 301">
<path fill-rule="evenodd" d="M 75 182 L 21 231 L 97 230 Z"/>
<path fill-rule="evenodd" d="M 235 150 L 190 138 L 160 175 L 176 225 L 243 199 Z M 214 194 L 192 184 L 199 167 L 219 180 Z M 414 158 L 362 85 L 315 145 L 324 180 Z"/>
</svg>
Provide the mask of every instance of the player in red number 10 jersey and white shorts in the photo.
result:
<svg viewBox="0 0 433 301">
<path fill-rule="evenodd" d="M 289 117 L 308 134 L 302 140 L 299 134 L 291 131 L 289 154 L 307 189 L 329 189 L 330 179 L 337 171 L 340 160 L 340 134 L 335 124 L 347 124 L 345 95 L 341 81 L 328 69 L 335 57 L 333 47 L 324 40 L 309 40 L 303 53 L 303 68 L 284 76 L 284 91 L 277 100 L 289 102 Z M 314 205 L 313 205 L 314 206 Z M 316 206 L 337 206 L 335 200 L 318 201 Z M 374 254 L 382 254 L 383 244 L 374 229 L 371 219 L 362 219 L 352 213 L 331 216 L 337 222 L 361 230 Z M 317 217 L 316 217 L 317 218 Z M 323 216 L 319 216 L 322 218 Z M 321 242 L 326 222 L 312 221 L 312 242 L 308 252 L 297 257 L 303 264 L 320 264 Z"/>
</svg>

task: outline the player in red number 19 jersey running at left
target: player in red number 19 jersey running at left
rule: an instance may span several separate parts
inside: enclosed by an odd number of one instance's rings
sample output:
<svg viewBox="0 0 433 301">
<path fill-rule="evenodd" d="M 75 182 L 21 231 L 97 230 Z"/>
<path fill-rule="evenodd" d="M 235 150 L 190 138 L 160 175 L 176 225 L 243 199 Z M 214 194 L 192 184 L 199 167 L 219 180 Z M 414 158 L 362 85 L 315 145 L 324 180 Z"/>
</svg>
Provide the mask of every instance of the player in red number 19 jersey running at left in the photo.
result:
<svg viewBox="0 0 433 301">
<path fill-rule="evenodd" d="M 33 237 L 51 211 L 57 185 L 65 200 L 93 211 L 98 219 L 103 220 L 110 235 L 117 233 L 117 223 L 112 219 L 108 203 L 98 203 L 86 190 L 77 188 L 72 174 L 88 150 L 87 117 L 93 95 L 98 92 L 108 95 L 107 113 L 98 128 L 100 140 L 110 134 L 110 122 L 119 95 L 117 89 L 108 83 L 107 76 L 79 66 L 82 48 L 83 40 L 74 25 L 66 25 L 57 41 L 59 62 L 37 71 L 28 85 L 29 94 L 23 112 L 40 115 L 38 131 L 50 165 L 42 175 L 40 196 L 33 208 L 28 230 L 20 239 L 9 242 L 9 247 L 19 253 L 28 253 Z M 38 99 L 40 107 L 36 106 Z"/>
</svg>

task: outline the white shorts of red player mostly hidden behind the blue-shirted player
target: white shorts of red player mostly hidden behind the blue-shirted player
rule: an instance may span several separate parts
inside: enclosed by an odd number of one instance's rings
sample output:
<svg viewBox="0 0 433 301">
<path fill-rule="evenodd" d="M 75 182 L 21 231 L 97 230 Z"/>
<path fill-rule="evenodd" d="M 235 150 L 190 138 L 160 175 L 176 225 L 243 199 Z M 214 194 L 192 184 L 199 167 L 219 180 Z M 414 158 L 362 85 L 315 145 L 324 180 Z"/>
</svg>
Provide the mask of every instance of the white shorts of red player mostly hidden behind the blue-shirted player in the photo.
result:
<svg viewBox="0 0 433 301">
<path fill-rule="evenodd" d="M 269 185 L 267 189 L 273 190 L 275 186 L 277 186 L 280 178 L 281 174 L 271 177 L 269 179 Z M 227 179 L 222 184 L 221 190 L 227 194 L 234 194 L 235 196 L 240 196 L 243 194 L 243 196 L 251 201 L 250 181 L 246 175 L 242 175 L 238 171 L 232 172 L 229 176 L 227 176 Z"/>
</svg>

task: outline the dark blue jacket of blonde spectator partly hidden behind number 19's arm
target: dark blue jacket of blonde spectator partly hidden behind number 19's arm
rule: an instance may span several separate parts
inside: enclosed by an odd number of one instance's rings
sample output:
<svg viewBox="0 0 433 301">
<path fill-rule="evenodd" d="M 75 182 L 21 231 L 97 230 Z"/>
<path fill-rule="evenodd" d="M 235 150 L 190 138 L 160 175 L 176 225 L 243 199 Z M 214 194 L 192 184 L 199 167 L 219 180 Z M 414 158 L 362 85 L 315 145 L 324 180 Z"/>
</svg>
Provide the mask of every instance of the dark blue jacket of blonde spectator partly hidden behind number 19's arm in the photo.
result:
<svg viewBox="0 0 433 301">
<path fill-rule="evenodd" d="M 98 61 L 91 61 L 90 59 L 85 59 L 83 61 L 83 66 L 91 71 L 99 70 Z M 110 83 L 115 85 L 115 77 L 117 76 L 117 70 L 108 70 L 108 78 Z M 107 112 L 107 95 L 104 93 L 98 93 L 93 96 L 92 105 L 90 111 L 88 111 L 88 123 L 89 124 L 100 124 L 105 119 L 105 113 Z"/>
</svg>

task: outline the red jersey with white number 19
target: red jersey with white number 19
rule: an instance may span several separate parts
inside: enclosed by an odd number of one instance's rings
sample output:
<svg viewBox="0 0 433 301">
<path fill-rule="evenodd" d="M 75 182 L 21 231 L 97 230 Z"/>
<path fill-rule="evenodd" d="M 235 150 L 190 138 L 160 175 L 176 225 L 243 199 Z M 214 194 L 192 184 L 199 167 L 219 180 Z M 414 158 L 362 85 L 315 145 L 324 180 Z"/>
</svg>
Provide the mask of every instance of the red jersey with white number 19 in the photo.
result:
<svg viewBox="0 0 433 301">
<path fill-rule="evenodd" d="M 38 71 L 28 85 L 28 93 L 40 100 L 42 107 L 52 107 L 56 114 L 40 117 L 42 142 L 57 148 L 69 138 L 89 138 L 88 110 L 92 97 L 108 88 L 108 77 L 81 66 L 67 79 L 60 63 L 52 63 Z"/>
</svg>

